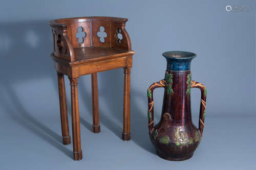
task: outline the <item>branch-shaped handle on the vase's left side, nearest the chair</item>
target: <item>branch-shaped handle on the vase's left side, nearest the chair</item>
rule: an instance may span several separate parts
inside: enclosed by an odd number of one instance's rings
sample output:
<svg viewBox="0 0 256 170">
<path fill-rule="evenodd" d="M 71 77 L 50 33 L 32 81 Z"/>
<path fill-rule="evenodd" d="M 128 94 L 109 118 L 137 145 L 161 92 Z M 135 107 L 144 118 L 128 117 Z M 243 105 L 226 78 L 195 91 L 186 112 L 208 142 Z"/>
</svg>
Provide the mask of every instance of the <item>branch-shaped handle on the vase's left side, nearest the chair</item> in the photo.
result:
<svg viewBox="0 0 256 170">
<path fill-rule="evenodd" d="M 148 117 L 148 130 L 150 131 L 150 134 L 152 133 L 154 129 L 154 101 L 153 101 L 153 91 L 155 88 L 158 87 L 165 87 L 165 80 L 160 80 L 159 82 L 153 83 L 148 89 L 147 89 L 147 99 L 148 99 L 148 111 L 147 111 L 147 117 Z"/>
</svg>

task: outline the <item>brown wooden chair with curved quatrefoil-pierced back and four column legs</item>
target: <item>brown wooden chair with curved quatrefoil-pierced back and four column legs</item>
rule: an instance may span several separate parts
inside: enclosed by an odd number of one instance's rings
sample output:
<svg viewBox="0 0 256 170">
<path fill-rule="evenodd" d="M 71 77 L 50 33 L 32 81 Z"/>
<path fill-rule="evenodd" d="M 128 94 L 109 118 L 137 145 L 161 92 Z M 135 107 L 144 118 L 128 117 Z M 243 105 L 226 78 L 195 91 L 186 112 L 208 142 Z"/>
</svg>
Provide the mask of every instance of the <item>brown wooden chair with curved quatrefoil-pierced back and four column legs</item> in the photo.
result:
<svg viewBox="0 0 256 170">
<path fill-rule="evenodd" d="M 49 21 L 53 33 L 53 53 L 58 77 L 59 105 L 63 144 L 70 144 L 66 90 L 63 75 L 71 86 L 72 134 L 74 160 L 82 159 L 77 81 L 91 74 L 94 133 L 100 132 L 97 72 L 123 67 L 123 132 L 130 140 L 131 40 L 125 30 L 126 18 L 78 17 Z"/>
</svg>

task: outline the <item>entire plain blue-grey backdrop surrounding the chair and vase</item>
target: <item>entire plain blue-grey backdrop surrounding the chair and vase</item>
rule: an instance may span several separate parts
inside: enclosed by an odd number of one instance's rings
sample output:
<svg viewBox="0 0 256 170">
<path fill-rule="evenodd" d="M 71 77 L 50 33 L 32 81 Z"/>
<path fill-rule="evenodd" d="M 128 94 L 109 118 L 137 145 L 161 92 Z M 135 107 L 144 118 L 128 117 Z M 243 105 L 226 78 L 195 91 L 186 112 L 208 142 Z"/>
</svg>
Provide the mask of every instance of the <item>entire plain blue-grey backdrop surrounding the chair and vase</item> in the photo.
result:
<svg viewBox="0 0 256 170">
<path fill-rule="evenodd" d="M 250 6 L 227 12 L 226 5 Z M 255 165 L 255 1 L 7 1 L 0 6 L 0 168 L 253 169 Z M 48 20 L 126 17 L 135 51 L 131 73 L 132 140 L 122 132 L 123 69 L 98 74 L 102 132 L 90 132 L 91 77 L 78 83 L 83 159 L 61 144 L 57 77 Z M 194 52 L 193 80 L 208 90 L 205 132 L 193 158 L 156 156 L 147 132 L 146 89 L 164 77 L 165 51 Z M 66 80 L 68 104 L 70 88 Z M 163 89 L 154 93 L 160 118 Z M 198 124 L 200 91 L 191 92 Z M 69 107 L 70 114 L 70 107 Z M 69 115 L 71 120 L 71 117 Z M 71 128 L 71 122 L 70 122 Z M 201 162 L 201 163 L 200 163 Z M 2 169 L 2 168 L 1 168 Z"/>
</svg>

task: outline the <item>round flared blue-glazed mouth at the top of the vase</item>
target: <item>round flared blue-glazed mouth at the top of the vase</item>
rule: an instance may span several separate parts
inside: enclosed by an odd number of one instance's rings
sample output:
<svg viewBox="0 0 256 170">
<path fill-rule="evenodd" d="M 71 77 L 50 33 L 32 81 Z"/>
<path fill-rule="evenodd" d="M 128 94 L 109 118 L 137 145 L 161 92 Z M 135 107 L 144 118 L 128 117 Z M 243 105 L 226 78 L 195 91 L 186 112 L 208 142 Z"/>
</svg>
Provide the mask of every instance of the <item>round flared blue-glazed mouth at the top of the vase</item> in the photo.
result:
<svg viewBox="0 0 256 170">
<path fill-rule="evenodd" d="M 173 59 L 193 59 L 197 57 L 195 53 L 184 52 L 184 51 L 170 51 L 164 52 L 163 56 L 165 58 L 173 58 Z"/>
</svg>

